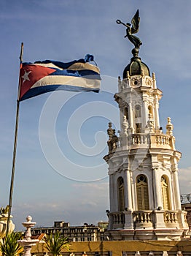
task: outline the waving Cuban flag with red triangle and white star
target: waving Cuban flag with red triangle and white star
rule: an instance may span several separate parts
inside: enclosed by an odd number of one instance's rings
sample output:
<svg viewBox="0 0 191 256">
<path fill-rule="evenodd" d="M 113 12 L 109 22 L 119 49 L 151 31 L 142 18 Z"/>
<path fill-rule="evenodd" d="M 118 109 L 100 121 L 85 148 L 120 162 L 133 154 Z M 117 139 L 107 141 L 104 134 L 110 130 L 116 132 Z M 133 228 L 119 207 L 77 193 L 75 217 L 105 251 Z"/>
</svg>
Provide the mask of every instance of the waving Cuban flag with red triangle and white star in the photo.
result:
<svg viewBox="0 0 191 256">
<path fill-rule="evenodd" d="M 97 66 L 88 63 L 93 56 L 68 63 L 36 61 L 20 65 L 20 91 L 22 101 L 49 91 L 94 91 L 100 89 L 101 77 Z"/>
</svg>

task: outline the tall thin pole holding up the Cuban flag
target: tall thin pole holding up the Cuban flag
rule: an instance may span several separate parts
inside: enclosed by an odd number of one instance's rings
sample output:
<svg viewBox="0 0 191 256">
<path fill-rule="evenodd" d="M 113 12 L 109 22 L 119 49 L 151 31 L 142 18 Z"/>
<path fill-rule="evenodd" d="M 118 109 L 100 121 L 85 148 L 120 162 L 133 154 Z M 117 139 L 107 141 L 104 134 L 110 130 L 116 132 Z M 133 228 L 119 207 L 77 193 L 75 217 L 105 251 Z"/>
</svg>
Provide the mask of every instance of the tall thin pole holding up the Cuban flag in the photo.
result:
<svg viewBox="0 0 191 256">
<path fill-rule="evenodd" d="M 23 42 L 21 43 L 20 48 L 20 64 L 23 62 Z M 9 234 L 9 222 L 11 217 L 11 209 L 12 209 L 12 194 L 13 194 L 13 185 L 14 185 L 14 176 L 15 176 L 15 159 L 16 159 L 16 152 L 17 152 L 17 134 L 18 134 L 18 117 L 19 117 L 19 96 L 20 96 L 20 81 L 18 85 L 18 93 L 17 93 L 17 111 L 16 111 L 16 121 L 15 121 L 15 140 L 14 140 L 14 148 L 13 148 L 13 157 L 12 157 L 12 176 L 11 176 L 11 184 L 9 190 L 9 211 L 8 211 L 8 218 L 7 218 L 7 236 Z"/>
</svg>

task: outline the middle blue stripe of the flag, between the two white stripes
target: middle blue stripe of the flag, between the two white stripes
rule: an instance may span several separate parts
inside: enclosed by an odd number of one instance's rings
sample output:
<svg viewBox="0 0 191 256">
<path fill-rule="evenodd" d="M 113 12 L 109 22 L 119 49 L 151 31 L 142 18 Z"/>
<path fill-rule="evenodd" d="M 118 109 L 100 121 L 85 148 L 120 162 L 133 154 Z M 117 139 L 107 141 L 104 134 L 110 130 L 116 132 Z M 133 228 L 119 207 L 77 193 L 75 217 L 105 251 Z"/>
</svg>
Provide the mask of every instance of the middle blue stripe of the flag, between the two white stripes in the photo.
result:
<svg viewBox="0 0 191 256">
<path fill-rule="evenodd" d="M 98 74 L 98 72 L 95 72 L 90 69 L 83 69 L 83 70 L 56 69 L 56 71 L 51 73 L 50 75 L 69 75 L 69 76 L 74 76 L 74 77 L 83 77 L 83 78 L 87 78 L 87 79 L 101 80 L 101 77 Z"/>
</svg>

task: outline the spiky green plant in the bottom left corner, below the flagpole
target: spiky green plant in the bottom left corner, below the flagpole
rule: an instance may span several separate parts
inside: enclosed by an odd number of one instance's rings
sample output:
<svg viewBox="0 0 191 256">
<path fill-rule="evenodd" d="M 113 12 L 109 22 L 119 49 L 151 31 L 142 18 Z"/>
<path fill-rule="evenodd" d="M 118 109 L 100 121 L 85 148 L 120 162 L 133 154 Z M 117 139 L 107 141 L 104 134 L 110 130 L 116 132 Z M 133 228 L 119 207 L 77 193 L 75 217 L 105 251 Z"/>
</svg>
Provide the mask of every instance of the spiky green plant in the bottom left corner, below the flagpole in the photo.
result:
<svg viewBox="0 0 191 256">
<path fill-rule="evenodd" d="M 22 238 L 20 232 L 12 232 L 5 236 L 0 242 L 0 250 L 3 256 L 16 256 L 23 251 L 23 247 L 17 243 L 17 240 Z"/>
</svg>

